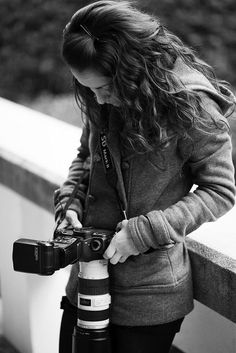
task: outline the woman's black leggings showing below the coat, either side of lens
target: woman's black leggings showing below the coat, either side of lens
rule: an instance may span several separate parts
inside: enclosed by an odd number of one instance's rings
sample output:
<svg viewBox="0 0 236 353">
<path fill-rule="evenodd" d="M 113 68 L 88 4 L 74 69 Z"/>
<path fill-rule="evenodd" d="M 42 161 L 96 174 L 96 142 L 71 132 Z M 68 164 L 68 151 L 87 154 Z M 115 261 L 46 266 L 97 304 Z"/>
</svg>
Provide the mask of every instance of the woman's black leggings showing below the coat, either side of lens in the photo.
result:
<svg viewBox="0 0 236 353">
<path fill-rule="evenodd" d="M 72 352 L 72 333 L 77 321 L 77 308 L 63 297 L 64 310 L 59 353 Z M 168 353 L 175 334 L 180 330 L 183 318 L 155 326 L 110 325 L 112 353 Z M 81 352 L 83 353 L 83 352 Z"/>
</svg>

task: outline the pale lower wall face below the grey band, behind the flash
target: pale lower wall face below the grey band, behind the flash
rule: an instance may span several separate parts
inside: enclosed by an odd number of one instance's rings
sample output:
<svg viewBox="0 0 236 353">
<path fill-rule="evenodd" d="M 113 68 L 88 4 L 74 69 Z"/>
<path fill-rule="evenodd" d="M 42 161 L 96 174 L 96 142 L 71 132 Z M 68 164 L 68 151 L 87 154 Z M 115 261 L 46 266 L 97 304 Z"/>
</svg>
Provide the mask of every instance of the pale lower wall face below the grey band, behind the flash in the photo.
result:
<svg viewBox="0 0 236 353">
<path fill-rule="evenodd" d="M 24 274 L 13 271 L 11 259 L 16 239 L 50 238 L 53 216 L 2 185 L 0 199 L 3 334 L 21 353 L 57 353 L 60 298 L 69 268 L 49 277 Z"/>
</svg>

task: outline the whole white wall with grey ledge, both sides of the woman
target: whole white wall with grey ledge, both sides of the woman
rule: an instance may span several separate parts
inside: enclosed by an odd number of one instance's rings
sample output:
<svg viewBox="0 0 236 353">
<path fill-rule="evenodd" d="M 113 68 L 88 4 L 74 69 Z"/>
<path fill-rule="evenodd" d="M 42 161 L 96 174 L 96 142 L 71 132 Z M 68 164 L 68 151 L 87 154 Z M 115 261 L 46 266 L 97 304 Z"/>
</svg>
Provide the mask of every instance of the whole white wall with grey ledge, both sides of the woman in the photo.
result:
<svg viewBox="0 0 236 353">
<path fill-rule="evenodd" d="M 81 130 L 4 99 L 0 114 L 3 331 L 22 353 L 56 353 L 59 303 L 69 269 L 46 278 L 16 273 L 11 252 L 19 237 L 51 236 L 52 195 L 67 175 Z M 235 220 L 233 208 L 187 239 L 196 301 L 174 341 L 183 352 L 236 351 Z"/>
</svg>

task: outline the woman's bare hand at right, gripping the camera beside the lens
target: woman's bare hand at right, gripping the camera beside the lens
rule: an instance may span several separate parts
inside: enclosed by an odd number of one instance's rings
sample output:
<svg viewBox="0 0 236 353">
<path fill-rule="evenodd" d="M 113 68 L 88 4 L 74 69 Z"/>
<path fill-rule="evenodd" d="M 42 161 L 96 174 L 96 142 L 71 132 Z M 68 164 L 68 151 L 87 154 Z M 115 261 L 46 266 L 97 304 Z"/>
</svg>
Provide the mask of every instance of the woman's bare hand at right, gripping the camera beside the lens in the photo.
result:
<svg viewBox="0 0 236 353">
<path fill-rule="evenodd" d="M 125 262 L 131 255 L 138 255 L 134 242 L 128 229 L 128 221 L 124 220 L 117 225 L 118 231 L 112 238 L 103 257 L 115 265 L 118 262 Z"/>
</svg>

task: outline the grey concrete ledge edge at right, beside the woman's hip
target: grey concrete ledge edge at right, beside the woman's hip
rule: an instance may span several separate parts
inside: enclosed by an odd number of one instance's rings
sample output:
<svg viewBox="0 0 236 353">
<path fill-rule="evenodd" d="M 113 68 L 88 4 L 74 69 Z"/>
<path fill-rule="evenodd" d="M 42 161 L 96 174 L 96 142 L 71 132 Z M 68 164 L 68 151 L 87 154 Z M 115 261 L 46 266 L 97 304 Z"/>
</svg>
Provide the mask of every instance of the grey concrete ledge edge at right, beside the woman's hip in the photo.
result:
<svg viewBox="0 0 236 353">
<path fill-rule="evenodd" d="M 236 323 L 236 260 L 191 238 L 194 298 Z"/>
</svg>

